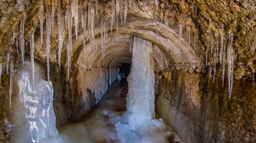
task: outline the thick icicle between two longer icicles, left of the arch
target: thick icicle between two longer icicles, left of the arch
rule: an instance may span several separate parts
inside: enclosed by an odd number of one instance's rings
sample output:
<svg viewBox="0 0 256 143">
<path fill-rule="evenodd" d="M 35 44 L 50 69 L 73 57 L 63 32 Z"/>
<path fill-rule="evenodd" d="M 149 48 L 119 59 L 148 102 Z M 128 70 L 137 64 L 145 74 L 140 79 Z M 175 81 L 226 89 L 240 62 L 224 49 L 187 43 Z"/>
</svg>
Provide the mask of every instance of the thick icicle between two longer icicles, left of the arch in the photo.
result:
<svg viewBox="0 0 256 143">
<path fill-rule="evenodd" d="M 64 41 L 64 29 L 65 29 L 65 15 L 61 13 L 61 7 L 59 6 L 58 12 L 58 28 L 59 28 L 59 50 L 58 50 L 58 60 L 59 67 L 61 69 L 61 57 L 62 57 L 62 46 Z"/>
</svg>

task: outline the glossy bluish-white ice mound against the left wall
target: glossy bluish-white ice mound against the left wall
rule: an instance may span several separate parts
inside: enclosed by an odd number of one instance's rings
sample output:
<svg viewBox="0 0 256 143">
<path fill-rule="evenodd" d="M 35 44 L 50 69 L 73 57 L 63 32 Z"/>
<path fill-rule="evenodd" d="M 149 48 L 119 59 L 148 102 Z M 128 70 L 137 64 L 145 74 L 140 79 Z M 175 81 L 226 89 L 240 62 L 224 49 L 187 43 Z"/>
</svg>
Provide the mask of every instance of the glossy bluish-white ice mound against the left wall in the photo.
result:
<svg viewBox="0 0 256 143">
<path fill-rule="evenodd" d="M 18 93 L 13 105 L 13 143 L 42 143 L 59 135 L 53 108 L 53 85 L 45 81 L 43 72 L 35 64 L 35 82 L 32 82 L 30 62 L 17 70 Z"/>
</svg>

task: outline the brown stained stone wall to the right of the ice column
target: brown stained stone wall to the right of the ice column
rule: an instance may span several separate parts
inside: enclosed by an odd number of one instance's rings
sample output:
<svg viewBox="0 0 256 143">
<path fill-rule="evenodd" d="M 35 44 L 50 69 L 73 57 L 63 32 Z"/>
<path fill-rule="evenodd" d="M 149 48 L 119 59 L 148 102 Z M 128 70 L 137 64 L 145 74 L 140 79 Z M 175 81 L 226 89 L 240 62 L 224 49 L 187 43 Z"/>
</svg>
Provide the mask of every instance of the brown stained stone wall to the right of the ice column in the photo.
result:
<svg viewBox="0 0 256 143">
<path fill-rule="evenodd" d="M 254 143 L 256 86 L 198 73 L 164 70 L 156 74 L 156 110 L 185 143 Z"/>
</svg>

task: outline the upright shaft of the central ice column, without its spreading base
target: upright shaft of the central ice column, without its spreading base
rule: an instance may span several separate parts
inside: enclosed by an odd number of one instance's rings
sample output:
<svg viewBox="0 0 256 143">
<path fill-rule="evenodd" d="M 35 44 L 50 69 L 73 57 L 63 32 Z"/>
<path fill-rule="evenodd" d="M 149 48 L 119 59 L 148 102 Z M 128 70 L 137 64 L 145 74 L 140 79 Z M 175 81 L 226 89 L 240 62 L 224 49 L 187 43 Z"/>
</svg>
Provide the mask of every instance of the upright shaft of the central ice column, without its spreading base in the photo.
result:
<svg viewBox="0 0 256 143">
<path fill-rule="evenodd" d="M 154 118 L 154 67 L 150 62 L 152 43 L 134 36 L 131 73 L 128 76 L 128 124 L 136 129 Z"/>
</svg>

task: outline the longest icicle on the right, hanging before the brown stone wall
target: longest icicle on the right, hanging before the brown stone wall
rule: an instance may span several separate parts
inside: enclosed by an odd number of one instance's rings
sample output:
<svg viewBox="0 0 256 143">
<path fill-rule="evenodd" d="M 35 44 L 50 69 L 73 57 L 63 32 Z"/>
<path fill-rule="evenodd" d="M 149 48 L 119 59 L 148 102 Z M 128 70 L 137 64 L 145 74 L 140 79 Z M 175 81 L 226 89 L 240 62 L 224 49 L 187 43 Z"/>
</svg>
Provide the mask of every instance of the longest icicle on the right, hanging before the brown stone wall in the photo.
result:
<svg viewBox="0 0 256 143">
<path fill-rule="evenodd" d="M 233 36 L 229 34 L 229 42 L 228 42 L 228 51 L 227 51 L 227 59 L 228 59 L 228 93 L 229 98 L 231 97 L 232 88 L 233 88 L 233 74 L 234 74 L 234 57 L 233 57 Z"/>
</svg>

